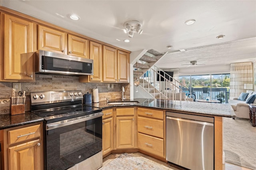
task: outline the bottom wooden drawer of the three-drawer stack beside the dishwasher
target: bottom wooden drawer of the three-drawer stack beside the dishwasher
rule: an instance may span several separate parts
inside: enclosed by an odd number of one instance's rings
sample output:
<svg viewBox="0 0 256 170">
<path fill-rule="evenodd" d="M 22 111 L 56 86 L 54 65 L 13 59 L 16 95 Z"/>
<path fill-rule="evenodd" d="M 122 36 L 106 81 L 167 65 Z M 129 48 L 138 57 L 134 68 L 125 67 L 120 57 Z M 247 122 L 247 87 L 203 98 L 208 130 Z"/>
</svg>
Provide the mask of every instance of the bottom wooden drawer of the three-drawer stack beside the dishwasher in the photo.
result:
<svg viewBox="0 0 256 170">
<path fill-rule="evenodd" d="M 164 139 L 138 133 L 138 148 L 164 157 Z"/>
</svg>

